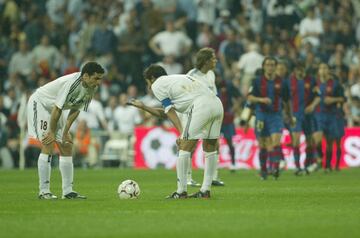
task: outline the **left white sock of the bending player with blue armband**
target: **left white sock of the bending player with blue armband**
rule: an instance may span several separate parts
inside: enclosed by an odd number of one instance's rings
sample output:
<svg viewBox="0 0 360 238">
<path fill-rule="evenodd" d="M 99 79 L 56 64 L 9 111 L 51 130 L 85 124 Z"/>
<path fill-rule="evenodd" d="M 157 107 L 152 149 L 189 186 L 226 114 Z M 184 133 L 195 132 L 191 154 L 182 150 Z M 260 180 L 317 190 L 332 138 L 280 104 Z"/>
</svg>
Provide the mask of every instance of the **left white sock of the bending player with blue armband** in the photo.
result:
<svg viewBox="0 0 360 238">
<path fill-rule="evenodd" d="M 177 174 L 177 193 L 187 191 L 186 174 L 188 171 L 188 164 L 190 161 L 191 153 L 184 150 L 179 150 L 179 156 L 176 161 L 176 174 Z"/>
</svg>

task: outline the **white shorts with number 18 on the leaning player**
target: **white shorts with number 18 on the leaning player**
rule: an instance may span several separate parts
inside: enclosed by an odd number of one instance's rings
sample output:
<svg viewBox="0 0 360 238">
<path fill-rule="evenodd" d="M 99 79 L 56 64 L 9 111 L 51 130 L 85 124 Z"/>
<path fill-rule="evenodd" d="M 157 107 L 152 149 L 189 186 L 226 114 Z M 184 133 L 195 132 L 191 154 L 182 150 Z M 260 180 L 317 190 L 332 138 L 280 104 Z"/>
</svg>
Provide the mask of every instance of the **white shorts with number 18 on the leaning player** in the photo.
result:
<svg viewBox="0 0 360 238">
<path fill-rule="evenodd" d="M 55 105 L 54 105 L 55 106 Z M 50 130 L 50 117 L 52 108 L 46 108 L 36 99 L 35 94 L 31 95 L 27 105 L 28 135 L 31 138 L 41 141 Z M 62 142 L 62 135 L 65 129 L 67 113 L 62 112 L 59 118 L 55 140 Z"/>
</svg>

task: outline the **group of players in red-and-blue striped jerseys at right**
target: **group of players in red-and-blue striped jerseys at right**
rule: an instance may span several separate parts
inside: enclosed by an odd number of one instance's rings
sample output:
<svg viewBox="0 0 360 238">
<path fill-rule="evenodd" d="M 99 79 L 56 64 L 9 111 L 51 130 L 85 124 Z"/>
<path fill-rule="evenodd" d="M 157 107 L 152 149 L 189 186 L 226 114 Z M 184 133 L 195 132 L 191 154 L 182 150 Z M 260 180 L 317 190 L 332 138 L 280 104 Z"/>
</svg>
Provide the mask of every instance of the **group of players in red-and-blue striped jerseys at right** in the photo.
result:
<svg viewBox="0 0 360 238">
<path fill-rule="evenodd" d="M 279 163 L 284 159 L 280 145 L 282 130 L 291 133 L 295 175 L 324 168 L 332 171 L 333 144 L 336 142 L 336 170 L 339 170 L 341 138 L 344 135 L 344 89 L 326 63 L 320 63 L 314 74 L 297 62 L 287 75 L 287 64 L 266 57 L 262 70 L 252 83 L 247 97 L 248 115 L 254 114 L 255 134 L 259 142 L 260 176 L 267 179 L 280 175 Z M 246 110 L 245 110 L 246 111 Z M 245 116 L 247 119 L 250 116 Z M 306 138 L 306 159 L 300 165 L 300 136 Z M 326 140 L 323 161 L 322 138 Z"/>
</svg>

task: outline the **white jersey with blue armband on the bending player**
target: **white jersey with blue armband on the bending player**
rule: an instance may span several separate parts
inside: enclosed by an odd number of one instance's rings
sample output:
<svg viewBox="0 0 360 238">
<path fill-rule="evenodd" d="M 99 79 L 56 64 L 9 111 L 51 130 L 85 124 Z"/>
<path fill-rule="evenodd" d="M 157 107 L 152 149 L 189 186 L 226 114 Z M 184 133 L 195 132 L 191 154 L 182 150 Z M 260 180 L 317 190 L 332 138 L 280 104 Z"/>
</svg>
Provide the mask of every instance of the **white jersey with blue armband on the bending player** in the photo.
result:
<svg viewBox="0 0 360 238">
<path fill-rule="evenodd" d="M 161 76 L 152 84 L 151 89 L 165 108 L 165 113 L 172 107 L 180 113 L 185 113 L 195 99 L 216 97 L 204 83 L 186 74 Z"/>
</svg>

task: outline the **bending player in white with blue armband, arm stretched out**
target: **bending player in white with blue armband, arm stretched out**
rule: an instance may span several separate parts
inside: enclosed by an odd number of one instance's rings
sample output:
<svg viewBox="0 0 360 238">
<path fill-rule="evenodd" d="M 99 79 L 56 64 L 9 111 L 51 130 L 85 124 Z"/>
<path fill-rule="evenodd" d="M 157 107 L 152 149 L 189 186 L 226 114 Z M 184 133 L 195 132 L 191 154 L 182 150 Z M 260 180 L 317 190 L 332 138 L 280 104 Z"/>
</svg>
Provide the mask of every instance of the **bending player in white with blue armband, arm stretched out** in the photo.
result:
<svg viewBox="0 0 360 238">
<path fill-rule="evenodd" d="M 167 75 L 165 69 L 159 65 L 148 67 L 144 71 L 144 77 L 164 109 L 149 108 L 145 105 L 140 105 L 140 108 L 154 115 L 167 117 L 181 133 L 177 141 L 177 190 L 167 198 L 210 198 L 210 187 L 218 161 L 217 141 L 223 119 L 220 99 L 199 80 L 189 75 Z M 177 113 L 186 113 L 186 119 L 181 122 Z M 199 139 L 203 140 L 205 152 L 204 180 L 200 191 L 188 196 L 188 164 L 191 152 Z"/>
</svg>

